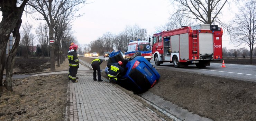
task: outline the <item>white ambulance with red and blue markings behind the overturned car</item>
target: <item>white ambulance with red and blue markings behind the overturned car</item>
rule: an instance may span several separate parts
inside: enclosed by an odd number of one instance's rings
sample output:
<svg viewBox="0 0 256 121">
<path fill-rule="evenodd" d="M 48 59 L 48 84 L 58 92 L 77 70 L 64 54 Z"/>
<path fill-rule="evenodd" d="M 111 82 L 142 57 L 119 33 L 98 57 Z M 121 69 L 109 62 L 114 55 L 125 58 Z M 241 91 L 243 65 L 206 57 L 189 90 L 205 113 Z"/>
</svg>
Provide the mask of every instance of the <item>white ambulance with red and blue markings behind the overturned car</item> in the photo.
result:
<svg viewBox="0 0 256 121">
<path fill-rule="evenodd" d="M 136 52 L 140 52 L 141 56 L 146 58 L 148 62 L 150 62 L 150 59 L 152 59 L 152 50 L 150 43 L 148 41 L 144 40 L 131 40 L 128 43 L 127 49 L 125 50 L 125 58 L 130 58 L 132 55 L 134 55 Z"/>
</svg>

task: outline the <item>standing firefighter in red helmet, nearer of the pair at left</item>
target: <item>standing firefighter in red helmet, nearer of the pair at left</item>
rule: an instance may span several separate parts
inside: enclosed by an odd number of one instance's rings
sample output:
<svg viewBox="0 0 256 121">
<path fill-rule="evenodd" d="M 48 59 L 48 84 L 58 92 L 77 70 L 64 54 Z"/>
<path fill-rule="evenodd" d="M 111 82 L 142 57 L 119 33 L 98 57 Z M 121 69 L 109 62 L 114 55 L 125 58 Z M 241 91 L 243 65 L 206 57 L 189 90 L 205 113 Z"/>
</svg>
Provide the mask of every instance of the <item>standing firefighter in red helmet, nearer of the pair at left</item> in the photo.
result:
<svg viewBox="0 0 256 121">
<path fill-rule="evenodd" d="M 79 60 L 76 53 L 77 49 L 78 49 L 78 45 L 73 45 L 73 49 L 71 50 L 71 53 L 70 53 L 70 55 L 73 56 L 73 58 L 71 57 L 71 64 L 72 64 L 71 81 L 72 82 L 78 82 L 76 80 L 77 69 L 79 68 Z"/>
</svg>

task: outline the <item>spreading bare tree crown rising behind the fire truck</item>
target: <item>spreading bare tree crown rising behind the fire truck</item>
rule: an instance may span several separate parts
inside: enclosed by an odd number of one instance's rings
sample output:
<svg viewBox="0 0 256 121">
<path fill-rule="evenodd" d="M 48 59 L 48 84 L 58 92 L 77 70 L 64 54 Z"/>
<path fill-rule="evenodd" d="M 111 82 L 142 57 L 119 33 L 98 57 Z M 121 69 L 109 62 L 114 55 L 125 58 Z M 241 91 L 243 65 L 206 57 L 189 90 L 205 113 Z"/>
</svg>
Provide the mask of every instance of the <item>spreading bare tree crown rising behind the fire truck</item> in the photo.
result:
<svg viewBox="0 0 256 121">
<path fill-rule="evenodd" d="M 204 24 L 212 24 L 213 22 L 218 22 L 219 24 L 222 24 L 222 22 L 218 18 L 218 15 L 221 14 L 221 10 L 225 6 L 225 4 L 229 2 L 228 0 L 170 1 L 174 4 L 177 4 L 177 14 L 198 20 Z"/>
</svg>

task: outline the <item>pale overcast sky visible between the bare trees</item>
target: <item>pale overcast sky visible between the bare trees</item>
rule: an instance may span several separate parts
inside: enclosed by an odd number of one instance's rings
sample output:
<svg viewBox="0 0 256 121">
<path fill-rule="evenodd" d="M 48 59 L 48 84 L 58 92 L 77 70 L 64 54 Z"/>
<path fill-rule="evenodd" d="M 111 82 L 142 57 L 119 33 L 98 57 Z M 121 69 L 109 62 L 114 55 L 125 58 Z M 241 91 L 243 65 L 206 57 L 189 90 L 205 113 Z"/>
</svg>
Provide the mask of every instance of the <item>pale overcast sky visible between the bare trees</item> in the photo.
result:
<svg viewBox="0 0 256 121">
<path fill-rule="evenodd" d="M 170 0 L 87 0 L 88 4 L 78 11 L 84 13 L 73 22 L 72 30 L 80 44 L 89 44 L 106 32 L 118 34 L 127 25 L 137 24 L 147 29 L 150 35 L 156 32 L 155 27 L 165 25 L 173 12 Z M 233 7 L 233 11 L 236 10 Z M 223 9 L 221 20 L 229 21 L 234 17 L 227 7 Z M 31 21 L 34 28 L 39 24 L 29 16 L 22 16 L 23 22 Z M 23 23 L 24 24 L 24 23 Z M 225 31 L 224 31 L 225 32 Z M 237 48 L 229 43 L 226 35 L 222 36 L 222 47 Z M 244 47 L 244 46 L 240 46 Z"/>
</svg>

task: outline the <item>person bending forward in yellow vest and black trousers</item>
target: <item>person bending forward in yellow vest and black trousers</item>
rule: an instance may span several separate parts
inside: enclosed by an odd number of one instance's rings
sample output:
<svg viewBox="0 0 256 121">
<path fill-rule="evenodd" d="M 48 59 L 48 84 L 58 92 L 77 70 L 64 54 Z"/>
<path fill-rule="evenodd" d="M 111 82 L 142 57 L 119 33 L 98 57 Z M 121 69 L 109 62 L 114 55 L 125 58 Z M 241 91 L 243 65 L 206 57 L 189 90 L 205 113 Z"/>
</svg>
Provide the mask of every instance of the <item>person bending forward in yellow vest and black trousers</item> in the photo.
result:
<svg viewBox="0 0 256 121">
<path fill-rule="evenodd" d="M 92 69 L 93 69 L 93 81 L 97 81 L 96 79 L 96 70 L 98 72 L 98 81 L 102 82 L 101 75 L 100 75 L 100 64 L 102 63 L 102 59 L 94 59 L 92 61 Z"/>
</svg>

